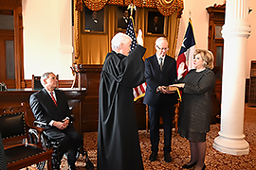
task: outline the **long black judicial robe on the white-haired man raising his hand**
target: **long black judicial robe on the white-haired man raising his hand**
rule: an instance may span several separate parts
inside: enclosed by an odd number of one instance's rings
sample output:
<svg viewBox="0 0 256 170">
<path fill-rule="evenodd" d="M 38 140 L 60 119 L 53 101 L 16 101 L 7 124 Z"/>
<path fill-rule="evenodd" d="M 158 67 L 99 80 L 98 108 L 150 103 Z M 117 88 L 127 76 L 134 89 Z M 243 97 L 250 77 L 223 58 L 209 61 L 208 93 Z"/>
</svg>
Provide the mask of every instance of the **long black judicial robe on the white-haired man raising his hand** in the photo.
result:
<svg viewBox="0 0 256 170">
<path fill-rule="evenodd" d="M 104 61 L 99 91 L 98 170 L 143 169 L 133 88 L 143 83 L 146 49 L 126 57 L 112 51 Z"/>
</svg>

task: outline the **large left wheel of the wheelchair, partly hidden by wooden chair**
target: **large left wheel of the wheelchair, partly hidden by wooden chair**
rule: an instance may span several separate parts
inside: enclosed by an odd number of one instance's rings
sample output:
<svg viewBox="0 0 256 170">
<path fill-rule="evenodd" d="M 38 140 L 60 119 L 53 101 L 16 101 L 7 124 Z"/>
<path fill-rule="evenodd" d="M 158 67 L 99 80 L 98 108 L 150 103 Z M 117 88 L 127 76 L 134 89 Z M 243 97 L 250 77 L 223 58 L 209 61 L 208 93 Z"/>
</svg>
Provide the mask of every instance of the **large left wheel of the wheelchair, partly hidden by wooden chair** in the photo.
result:
<svg viewBox="0 0 256 170">
<path fill-rule="evenodd" d="M 29 138 L 30 138 L 29 140 L 31 144 L 38 144 L 39 140 L 41 140 L 43 148 L 46 148 L 46 138 L 44 137 L 44 135 L 41 135 L 40 136 L 41 139 L 38 139 L 38 133 L 36 129 L 30 128 L 28 132 L 29 132 Z M 36 163 L 36 167 L 38 170 L 43 170 L 45 166 L 46 166 L 46 161 L 41 161 Z"/>
</svg>

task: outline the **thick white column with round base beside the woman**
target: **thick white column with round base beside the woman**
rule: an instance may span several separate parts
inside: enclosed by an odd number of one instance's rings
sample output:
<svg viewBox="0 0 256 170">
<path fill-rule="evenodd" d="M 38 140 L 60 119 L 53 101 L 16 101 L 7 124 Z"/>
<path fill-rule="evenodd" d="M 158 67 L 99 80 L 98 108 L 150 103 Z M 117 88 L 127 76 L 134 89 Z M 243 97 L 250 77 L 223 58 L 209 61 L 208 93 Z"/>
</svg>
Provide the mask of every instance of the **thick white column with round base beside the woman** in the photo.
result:
<svg viewBox="0 0 256 170">
<path fill-rule="evenodd" d="M 247 38 L 247 0 L 227 0 L 223 26 L 224 57 L 222 78 L 221 130 L 213 147 L 232 155 L 248 154 L 244 139 Z"/>
</svg>

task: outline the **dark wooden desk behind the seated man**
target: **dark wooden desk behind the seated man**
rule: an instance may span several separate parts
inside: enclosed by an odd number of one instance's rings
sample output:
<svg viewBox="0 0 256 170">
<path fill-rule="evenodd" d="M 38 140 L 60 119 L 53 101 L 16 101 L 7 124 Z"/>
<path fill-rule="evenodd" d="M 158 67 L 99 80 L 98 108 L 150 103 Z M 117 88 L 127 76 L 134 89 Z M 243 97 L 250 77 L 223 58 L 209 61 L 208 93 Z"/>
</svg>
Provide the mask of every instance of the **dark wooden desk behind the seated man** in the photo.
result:
<svg viewBox="0 0 256 170">
<path fill-rule="evenodd" d="M 70 89 L 63 88 L 60 89 L 64 91 L 67 102 L 70 108 L 72 108 L 72 112 L 75 115 L 74 127 L 82 134 L 82 114 L 85 110 L 82 108 L 82 101 L 86 95 L 86 90 L 78 90 L 78 89 Z M 32 91 L 32 89 L 9 89 L 5 92 L 0 92 L 0 107 L 5 108 L 9 106 L 20 105 L 21 102 L 25 102 L 25 106 L 27 108 L 28 122 L 29 124 L 33 124 L 33 113 L 29 106 L 29 96 L 32 93 L 37 92 L 37 90 Z"/>
</svg>

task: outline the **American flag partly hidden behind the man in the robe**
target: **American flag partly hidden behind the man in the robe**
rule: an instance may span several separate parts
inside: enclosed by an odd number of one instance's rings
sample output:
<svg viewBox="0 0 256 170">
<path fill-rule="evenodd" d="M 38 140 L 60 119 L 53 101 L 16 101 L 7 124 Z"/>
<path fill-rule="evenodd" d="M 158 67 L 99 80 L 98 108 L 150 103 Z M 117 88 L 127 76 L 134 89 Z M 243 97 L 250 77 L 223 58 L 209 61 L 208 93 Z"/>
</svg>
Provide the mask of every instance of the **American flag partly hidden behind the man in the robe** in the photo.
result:
<svg viewBox="0 0 256 170">
<path fill-rule="evenodd" d="M 136 39 L 136 34 L 135 34 L 133 17 L 130 17 L 129 24 L 126 29 L 126 34 L 132 38 L 131 51 L 133 51 L 137 46 L 137 39 Z M 133 89 L 134 90 L 134 101 L 137 101 L 138 98 L 145 95 L 146 87 L 147 87 L 147 83 L 144 82 Z"/>
</svg>

